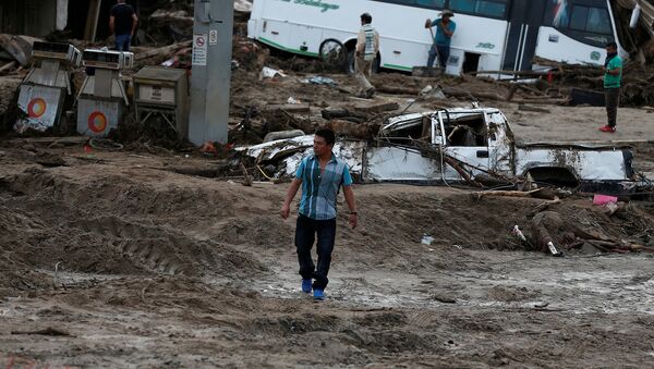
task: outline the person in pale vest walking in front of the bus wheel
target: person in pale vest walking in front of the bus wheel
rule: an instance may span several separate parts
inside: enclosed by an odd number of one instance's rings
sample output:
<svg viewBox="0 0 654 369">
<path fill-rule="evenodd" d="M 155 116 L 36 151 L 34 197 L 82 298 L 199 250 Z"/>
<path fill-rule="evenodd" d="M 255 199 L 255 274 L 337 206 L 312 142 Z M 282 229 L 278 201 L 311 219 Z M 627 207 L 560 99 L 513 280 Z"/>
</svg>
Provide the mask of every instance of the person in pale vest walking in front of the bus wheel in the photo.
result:
<svg viewBox="0 0 654 369">
<path fill-rule="evenodd" d="M 354 49 L 354 77 L 359 83 L 359 97 L 370 99 L 375 95 L 375 87 L 368 78 L 373 73 L 373 62 L 379 51 L 379 34 L 373 26 L 373 17 L 368 13 L 361 14 L 361 29 Z"/>
</svg>

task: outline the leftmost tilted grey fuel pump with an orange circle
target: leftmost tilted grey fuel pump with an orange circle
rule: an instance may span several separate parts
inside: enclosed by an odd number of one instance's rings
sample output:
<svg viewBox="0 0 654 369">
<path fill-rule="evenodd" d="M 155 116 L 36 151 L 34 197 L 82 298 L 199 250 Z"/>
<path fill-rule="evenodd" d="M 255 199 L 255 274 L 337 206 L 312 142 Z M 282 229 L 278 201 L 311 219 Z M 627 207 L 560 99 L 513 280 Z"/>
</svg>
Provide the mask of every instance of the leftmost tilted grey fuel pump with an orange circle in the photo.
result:
<svg viewBox="0 0 654 369">
<path fill-rule="evenodd" d="M 71 76 L 81 53 L 72 45 L 35 41 L 32 58 L 34 67 L 20 87 L 19 108 L 26 116 L 16 121 L 17 132 L 43 132 L 59 123 L 64 104 L 74 96 Z"/>
</svg>

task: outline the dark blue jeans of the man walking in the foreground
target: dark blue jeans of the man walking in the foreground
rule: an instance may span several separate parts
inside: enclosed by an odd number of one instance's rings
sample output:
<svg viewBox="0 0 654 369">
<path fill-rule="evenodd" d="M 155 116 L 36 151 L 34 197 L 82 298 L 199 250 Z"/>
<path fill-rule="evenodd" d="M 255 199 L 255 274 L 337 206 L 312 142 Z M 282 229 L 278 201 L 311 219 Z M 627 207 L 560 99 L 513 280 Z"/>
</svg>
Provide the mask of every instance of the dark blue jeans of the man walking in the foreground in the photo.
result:
<svg viewBox="0 0 654 369">
<path fill-rule="evenodd" d="M 311 249 L 314 242 L 317 244 L 318 268 L 316 269 Z M 328 220 L 315 220 L 302 214 L 298 216 L 295 227 L 295 247 L 298 248 L 298 262 L 300 263 L 300 275 L 303 279 L 314 279 L 314 290 L 325 290 L 329 280 L 329 265 L 331 263 L 331 251 L 336 238 L 336 218 Z"/>
</svg>

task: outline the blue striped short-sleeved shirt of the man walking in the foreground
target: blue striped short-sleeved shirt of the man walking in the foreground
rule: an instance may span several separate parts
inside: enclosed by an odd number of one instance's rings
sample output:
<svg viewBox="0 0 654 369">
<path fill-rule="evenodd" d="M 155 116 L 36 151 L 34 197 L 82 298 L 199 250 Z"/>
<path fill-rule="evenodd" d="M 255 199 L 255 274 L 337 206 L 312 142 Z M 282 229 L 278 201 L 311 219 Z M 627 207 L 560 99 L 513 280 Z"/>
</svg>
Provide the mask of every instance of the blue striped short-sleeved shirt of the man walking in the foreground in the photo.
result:
<svg viewBox="0 0 654 369">
<path fill-rule="evenodd" d="M 336 197 L 340 187 L 352 184 L 348 164 L 334 153 L 324 173 L 320 173 L 320 163 L 315 155 L 304 158 L 295 177 L 302 181 L 300 213 L 315 220 L 336 218 Z"/>
</svg>

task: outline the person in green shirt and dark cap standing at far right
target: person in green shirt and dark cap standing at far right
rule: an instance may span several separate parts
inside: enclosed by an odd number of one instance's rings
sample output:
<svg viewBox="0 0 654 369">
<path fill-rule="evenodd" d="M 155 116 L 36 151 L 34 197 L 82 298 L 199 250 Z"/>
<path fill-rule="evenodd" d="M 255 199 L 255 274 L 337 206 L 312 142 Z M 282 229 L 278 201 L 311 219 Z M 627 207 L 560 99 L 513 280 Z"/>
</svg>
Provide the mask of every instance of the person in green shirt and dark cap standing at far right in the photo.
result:
<svg viewBox="0 0 654 369">
<path fill-rule="evenodd" d="M 606 61 L 604 62 L 604 97 L 606 100 L 608 124 L 600 128 L 602 132 L 616 132 L 621 79 L 622 58 L 618 56 L 618 45 L 609 42 L 606 45 Z"/>
</svg>

